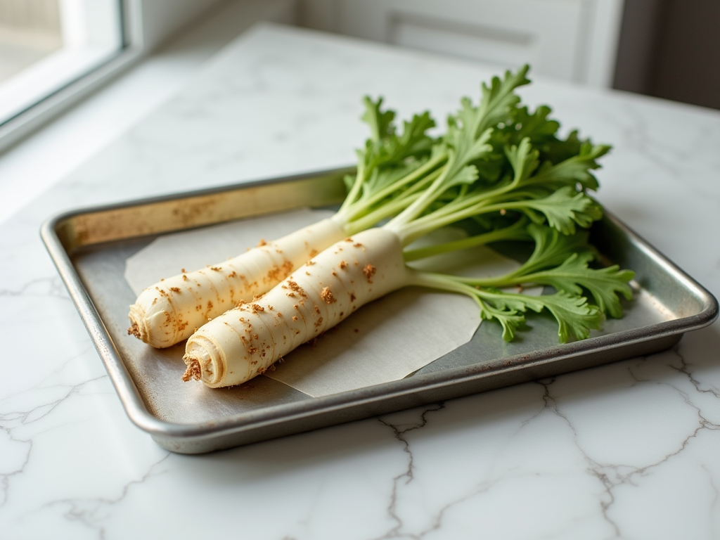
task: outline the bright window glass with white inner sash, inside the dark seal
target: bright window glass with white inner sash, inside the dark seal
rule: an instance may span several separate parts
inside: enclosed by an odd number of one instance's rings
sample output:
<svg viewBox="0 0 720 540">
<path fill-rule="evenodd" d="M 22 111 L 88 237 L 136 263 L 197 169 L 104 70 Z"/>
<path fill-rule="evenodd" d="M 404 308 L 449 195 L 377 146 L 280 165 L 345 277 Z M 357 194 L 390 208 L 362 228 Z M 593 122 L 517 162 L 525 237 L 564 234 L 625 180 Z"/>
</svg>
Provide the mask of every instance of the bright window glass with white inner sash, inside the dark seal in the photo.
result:
<svg viewBox="0 0 720 540">
<path fill-rule="evenodd" d="M 0 0 L 0 125 L 122 49 L 120 0 Z"/>
</svg>

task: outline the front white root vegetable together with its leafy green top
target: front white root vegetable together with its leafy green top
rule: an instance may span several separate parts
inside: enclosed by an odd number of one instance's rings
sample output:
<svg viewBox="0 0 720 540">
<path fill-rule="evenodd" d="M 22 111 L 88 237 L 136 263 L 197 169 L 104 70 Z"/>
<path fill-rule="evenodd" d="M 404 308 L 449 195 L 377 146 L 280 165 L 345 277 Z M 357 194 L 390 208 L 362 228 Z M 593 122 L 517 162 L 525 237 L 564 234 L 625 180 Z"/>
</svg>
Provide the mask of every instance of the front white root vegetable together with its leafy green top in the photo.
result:
<svg viewBox="0 0 720 540">
<path fill-rule="evenodd" d="M 559 127 L 546 120 L 549 109 L 531 114 L 518 106 L 515 89 L 528 83 L 526 72 L 527 66 L 483 85 L 477 107 L 464 99 L 431 155 L 415 163 L 410 174 L 401 168 L 401 180 L 394 181 L 397 171 L 388 169 L 367 173 L 372 163 L 395 156 L 401 140 L 391 139 L 379 149 L 371 141 L 368 153 L 361 153 L 371 159 L 361 160 L 358 168 L 358 178 L 367 183 L 356 181 L 340 211 L 356 219 L 350 238 L 325 249 L 263 297 L 225 312 L 190 336 L 183 379 L 202 380 L 209 387 L 246 382 L 362 305 L 406 285 L 466 294 L 477 303 L 481 319 L 502 325 L 506 341 L 525 323 L 528 310 L 549 310 L 563 342 L 590 336 L 591 329 L 599 328 L 603 312 L 621 314 L 618 294 L 629 298 L 632 273 L 613 267 L 590 269 L 594 250 L 587 246 L 587 235 L 576 236 L 578 228 L 588 228 L 602 216 L 587 190 L 597 188 L 590 171 L 598 168 L 596 160 L 609 148 L 580 143 L 575 132 L 567 140 L 548 138 Z M 386 124 L 382 115 L 374 117 L 377 133 L 384 132 Z M 554 151 L 544 156 L 534 148 L 531 135 L 543 151 Z M 513 138 L 516 144 L 505 144 Z M 375 143 L 379 140 L 376 137 Z M 388 187 L 379 187 L 386 182 Z M 363 185 L 377 191 L 365 193 Z M 376 199 L 386 201 L 379 210 L 374 210 Z M 370 206 L 354 208 L 353 201 Z M 391 219 L 381 228 L 368 228 L 386 217 Z M 536 249 L 526 264 L 506 276 L 463 278 L 405 266 L 406 246 L 458 222 L 487 230 L 451 243 L 451 250 L 518 238 L 513 223 L 523 229 L 527 222 L 546 225 L 544 232 L 528 232 Z M 445 251 L 442 246 L 433 249 Z M 550 285 L 557 292 L 527 297 L 497 288 L 531 284 Z M 597 305 L 588 303 L 584 290 Z"/>
</svg>

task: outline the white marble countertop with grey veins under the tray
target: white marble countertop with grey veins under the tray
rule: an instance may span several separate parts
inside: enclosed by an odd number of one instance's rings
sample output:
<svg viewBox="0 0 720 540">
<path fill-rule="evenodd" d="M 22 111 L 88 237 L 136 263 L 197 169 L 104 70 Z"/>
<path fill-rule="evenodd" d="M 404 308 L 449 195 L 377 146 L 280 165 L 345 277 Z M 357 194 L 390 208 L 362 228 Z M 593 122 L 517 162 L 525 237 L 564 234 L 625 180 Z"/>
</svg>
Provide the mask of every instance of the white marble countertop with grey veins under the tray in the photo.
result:
<svg viewBox="0 0 720 540">
<path fill-rule="evenodd" d="M 0 537 L 720 537 L 717 324 L 647 358 L 215 454 L 170 454 L 135 428 L 43 220 L 345 165 L 362 94 L 443 116 L 490 74 L 282 27 L 204 70 L 0 225 Z M 524 95 L 615 146 L 600 200 L 717 296 L 720 113 L 553 81 Z"/>
</svg>

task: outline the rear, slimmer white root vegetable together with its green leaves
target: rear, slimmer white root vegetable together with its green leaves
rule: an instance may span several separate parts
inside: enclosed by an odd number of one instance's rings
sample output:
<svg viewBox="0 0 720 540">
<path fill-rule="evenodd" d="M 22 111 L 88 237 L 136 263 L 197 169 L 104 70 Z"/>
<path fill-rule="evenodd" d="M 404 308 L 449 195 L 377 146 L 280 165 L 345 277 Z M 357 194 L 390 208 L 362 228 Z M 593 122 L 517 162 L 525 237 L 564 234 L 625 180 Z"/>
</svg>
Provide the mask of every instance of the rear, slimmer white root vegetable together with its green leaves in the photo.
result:
<svg viewBox="0 0 720 540">
<path fill-rule="evenodd" d="M 396 215 L 418 197 L 446 159 L 431 158 L 429 113 L 415 115 L 395 132 L 395 113 L 382 99 L 364 100 L 372 135 L 358 150 L 347 197 L 329 220 L 244 253 L 222 264 L 154 284 L 130 307 L 129 334 L 154 347 L 168 347 L 239 302 L 269 291 L 315 253 Z"/>
</svg>

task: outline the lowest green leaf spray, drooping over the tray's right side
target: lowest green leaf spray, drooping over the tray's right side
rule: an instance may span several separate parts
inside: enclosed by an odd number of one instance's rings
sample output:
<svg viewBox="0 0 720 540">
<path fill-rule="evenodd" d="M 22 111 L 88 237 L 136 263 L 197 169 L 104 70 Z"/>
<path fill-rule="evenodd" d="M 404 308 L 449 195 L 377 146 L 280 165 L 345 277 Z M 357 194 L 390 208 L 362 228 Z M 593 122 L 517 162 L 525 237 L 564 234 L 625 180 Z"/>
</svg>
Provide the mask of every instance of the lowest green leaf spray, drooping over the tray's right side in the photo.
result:
<svg viewBox="0 0 720 540">
<path fill-rule="evenodd" d="M 488 242 L 516 240 L 519 238 L 516 229 L 513 226 L 499 229 Z M 516 330 L 525 323 L 528 310 L 548 310 L 557 320 L 562 343 L 588 338 L 590 330 L 600 327 L 604 315 L 622 316 L 620 298 L 631 299 L 629 282 L 634 272 L 618 266 L 591 268 L 589 264 L 596 252 L 586 233 L 564 235 L 547 225 L 536 224 L 526 225 L 526 231 L 535 242 L 534 251 L 518 269 L 505 276 L 469 278 L 409 270 L 410 282 L 472 297 L 480 307 L 481 318 L 497 320 L 502 325 L 505 341 L 514 338 Z M 481 238 L 482 235 L 460 240 L 464 245 L 457 247 L 486 243 Z M 428 249 L 425 255 L 435 253 Z M 536 285 L 553 287 L 555 292 L 532 297 L 505 290 Z"/>
</svg>

